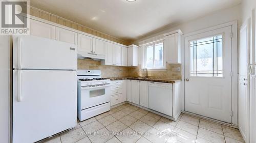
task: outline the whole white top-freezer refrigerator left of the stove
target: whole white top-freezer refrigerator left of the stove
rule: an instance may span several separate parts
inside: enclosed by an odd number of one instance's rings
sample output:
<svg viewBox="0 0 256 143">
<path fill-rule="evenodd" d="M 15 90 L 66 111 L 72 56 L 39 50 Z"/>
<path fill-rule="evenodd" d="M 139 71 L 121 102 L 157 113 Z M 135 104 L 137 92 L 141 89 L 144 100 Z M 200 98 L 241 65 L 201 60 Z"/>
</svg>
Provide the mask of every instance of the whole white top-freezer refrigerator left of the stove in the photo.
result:
<svg viewBox="0 0 256 143">
<path fill-rule="evenodd" d="M 77 46 L 13 37 L 12 142 L 36 142 L 76 126 Z"/>
</svg>

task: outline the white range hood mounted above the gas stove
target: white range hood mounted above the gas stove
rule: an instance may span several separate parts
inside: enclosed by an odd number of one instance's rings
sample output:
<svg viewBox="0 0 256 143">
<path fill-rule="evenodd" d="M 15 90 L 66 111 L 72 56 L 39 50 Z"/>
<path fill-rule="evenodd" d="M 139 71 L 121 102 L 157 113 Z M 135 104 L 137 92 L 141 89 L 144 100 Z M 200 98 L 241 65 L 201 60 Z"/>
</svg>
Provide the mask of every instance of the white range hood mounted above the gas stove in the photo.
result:
<svg viewBox="0 0 256 143">
<path fill-rule="evenodd" d="M 89 59 L 89 60 L 95 60 L 95 61 L 102 61 L 102 60 L 105 60 L 105 55 L 78 51 L 77 59 Z"/>
</svg>

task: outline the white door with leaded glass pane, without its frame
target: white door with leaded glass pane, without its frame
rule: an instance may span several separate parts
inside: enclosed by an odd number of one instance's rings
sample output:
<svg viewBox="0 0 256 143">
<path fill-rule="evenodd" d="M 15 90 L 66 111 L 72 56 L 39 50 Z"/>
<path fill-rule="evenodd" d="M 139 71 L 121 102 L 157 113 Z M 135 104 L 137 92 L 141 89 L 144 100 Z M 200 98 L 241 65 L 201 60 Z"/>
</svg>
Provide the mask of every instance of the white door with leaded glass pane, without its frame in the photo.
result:
<svg viewBox="0 0 256 143">
<path fill-rule="evenodd" d="M 231 26 L 185 37 L 185 111 L 231 123 Z"/>
</svg>

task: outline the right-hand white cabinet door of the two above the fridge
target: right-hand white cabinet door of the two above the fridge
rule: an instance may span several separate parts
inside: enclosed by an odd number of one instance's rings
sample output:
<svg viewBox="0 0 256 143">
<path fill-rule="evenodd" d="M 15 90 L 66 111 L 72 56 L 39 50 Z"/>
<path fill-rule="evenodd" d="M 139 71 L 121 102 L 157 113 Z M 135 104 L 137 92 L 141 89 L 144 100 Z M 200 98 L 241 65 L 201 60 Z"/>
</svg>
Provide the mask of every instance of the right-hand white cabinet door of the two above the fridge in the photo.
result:
<svg viewBox="0 0 256 143">
<path fill-rule="evenodd" d="M 55 40 L 77 44 L 77 33 L 75 32 L 65 30 L 60 27 L 56 27 L 55 34 L 56 34 Z"/>
</svg>

